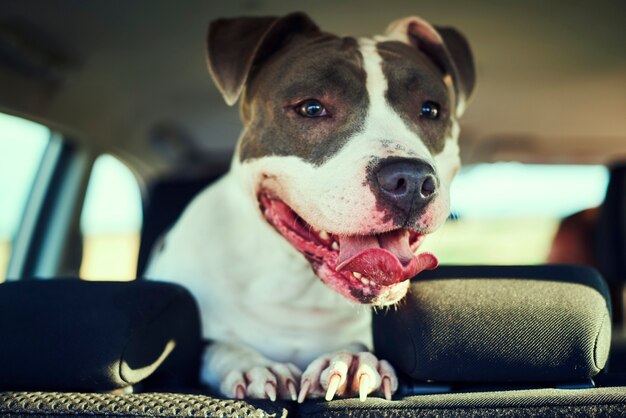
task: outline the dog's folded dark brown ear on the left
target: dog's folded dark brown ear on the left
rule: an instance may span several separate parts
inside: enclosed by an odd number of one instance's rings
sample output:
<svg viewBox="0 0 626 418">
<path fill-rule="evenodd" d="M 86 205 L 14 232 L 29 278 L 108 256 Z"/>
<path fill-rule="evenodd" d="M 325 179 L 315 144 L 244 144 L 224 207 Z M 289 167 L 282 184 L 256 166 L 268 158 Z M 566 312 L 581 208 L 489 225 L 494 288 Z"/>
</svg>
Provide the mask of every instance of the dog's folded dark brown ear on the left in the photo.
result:
<svg viewBox="0 0 626 418">
<path fill-rule="evenodd" d="M 319 28 L 304 13 L 211 22 L 207 64 L 229 106 L 237 102 L 253 66 L 284 46 L 296 33 L 319 33 Z"/>
</svg>

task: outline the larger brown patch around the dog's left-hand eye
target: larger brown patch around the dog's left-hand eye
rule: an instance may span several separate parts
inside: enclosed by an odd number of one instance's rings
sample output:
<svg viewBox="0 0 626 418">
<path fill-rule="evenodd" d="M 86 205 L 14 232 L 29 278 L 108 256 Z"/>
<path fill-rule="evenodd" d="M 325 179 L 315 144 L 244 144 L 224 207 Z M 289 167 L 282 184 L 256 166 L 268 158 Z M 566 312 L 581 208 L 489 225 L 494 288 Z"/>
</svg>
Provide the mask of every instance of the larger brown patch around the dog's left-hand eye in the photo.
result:
<svg viewBox="0 0 626 418">
<path fill-rule="evenodd" d="M 241 108 L 240 161 L 292 155 L 323 164 L 364 126 L 365 77 L 354 38 L 294 38 L 250 76 Z M 307 99 L 319 100 L 329 116 L 298 114 L 296 105 Z"/>
</svg>

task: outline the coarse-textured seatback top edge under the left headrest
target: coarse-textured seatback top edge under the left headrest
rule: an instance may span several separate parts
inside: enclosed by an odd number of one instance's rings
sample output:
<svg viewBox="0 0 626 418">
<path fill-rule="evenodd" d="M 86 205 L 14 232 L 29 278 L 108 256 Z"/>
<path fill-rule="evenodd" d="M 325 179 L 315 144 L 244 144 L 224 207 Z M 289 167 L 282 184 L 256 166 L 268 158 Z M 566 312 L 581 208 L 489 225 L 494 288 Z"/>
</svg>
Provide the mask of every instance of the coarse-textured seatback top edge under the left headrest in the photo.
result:
<svg viewBox="0 0 626 418">
<path fill-rule="evenodd" d="M 283 417 L 281 402 L 245 401 L 203 395 L 142 393 L 0 393 L 0 416 L 7 417 Z"/>
</svg>

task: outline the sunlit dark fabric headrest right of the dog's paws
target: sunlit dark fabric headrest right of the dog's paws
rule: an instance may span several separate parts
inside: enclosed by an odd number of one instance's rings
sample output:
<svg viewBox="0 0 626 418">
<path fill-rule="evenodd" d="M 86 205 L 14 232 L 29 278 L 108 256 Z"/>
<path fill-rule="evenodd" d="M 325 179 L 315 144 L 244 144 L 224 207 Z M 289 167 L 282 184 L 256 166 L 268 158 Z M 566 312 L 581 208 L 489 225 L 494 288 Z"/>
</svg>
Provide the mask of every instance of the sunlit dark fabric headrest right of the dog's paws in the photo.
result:
<svg viewBox="0 0 626 418">
<path fill-rule="evenodd" d="M 608 301 L 587 267 L 439 267 L 374 315 L 375 352 L 424 381 L 585 380 L 607 361 Z"/>
</svg>

